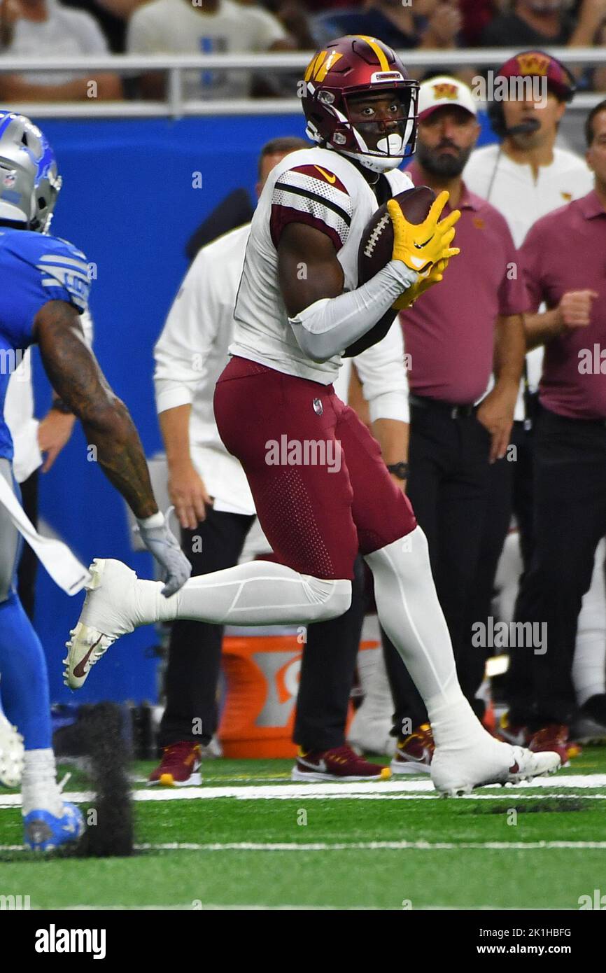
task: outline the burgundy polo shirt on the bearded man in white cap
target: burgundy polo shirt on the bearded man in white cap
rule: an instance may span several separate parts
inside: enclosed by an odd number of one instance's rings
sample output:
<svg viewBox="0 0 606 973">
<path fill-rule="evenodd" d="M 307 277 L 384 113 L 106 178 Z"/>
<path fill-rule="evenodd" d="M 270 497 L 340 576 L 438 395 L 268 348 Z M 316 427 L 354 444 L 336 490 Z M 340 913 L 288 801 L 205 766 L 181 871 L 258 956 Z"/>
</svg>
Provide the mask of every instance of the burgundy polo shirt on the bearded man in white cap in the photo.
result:
<svg viewBox="0 0 606 973">
<path fill-rule="evenodd" d="M 415 186 L 423 177 L 413 162 Z M 446 203 L 443 217 L 450 212 Z M 456 405 L 477 402 L 492 374 L 494 325 L 499 314 L 528 307 L 517 249 L 503 216 L 463 185 L 454 246 L 460 248 L 444 280 L 400 317 L 410 355 L 410 390 Z"/>
</svg>

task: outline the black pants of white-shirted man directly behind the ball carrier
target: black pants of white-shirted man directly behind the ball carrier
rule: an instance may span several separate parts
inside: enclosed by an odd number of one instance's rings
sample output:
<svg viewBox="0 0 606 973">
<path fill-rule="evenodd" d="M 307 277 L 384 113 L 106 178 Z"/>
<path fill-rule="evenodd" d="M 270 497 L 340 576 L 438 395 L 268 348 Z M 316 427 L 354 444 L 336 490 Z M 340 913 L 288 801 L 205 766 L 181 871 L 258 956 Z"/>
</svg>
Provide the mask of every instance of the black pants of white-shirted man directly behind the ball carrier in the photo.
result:
<svg viewBox="0 0 606 973">
<path fill-rule="evenodd" d="M 209 574 L 237 563 L 253 520 L 210 508 L 196 530 L 183 530 L 182 547 L 192 562 L 193 573 Z M 364 607 L 364 569 L 362 559 L 358 559 L 349 610 L 307 629 L 294 732 L 295 741 L 306 750 L 328 750 L 344 743 Z M 207 743 L 216 732 L 222 642 L 221 626 L 189 621 L 173 624 L 161 746 L 185 739 Z M 194 733 L 195 719 L 201 720 L 201 734 Z"/>
</svg>

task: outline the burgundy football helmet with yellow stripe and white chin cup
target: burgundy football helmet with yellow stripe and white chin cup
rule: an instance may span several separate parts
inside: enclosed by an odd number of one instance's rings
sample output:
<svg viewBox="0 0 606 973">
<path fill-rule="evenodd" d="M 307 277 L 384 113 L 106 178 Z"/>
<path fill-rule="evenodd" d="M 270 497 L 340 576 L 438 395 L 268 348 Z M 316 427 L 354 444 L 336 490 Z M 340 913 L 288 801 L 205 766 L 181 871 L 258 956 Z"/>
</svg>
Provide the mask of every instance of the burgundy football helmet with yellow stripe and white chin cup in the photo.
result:
<svg viewBox="0 0 606 973">
<path fill-rule="evenodd" d="M 414 152 L 418 82 L 382 41 L 363 34 L 331 41 L 312 57 L 303 86 L 306 133 L 314 142 L 351 156 L 374 172 L 394 169 Z M 383 137 L 371 148 L 350 121 L 347 99 L 353 94 L 389 90 L 398 93 L 402 104 L 398 125 L 387 132 L 383 122 L 372 123 L 376 134 Z"/>
</svg>

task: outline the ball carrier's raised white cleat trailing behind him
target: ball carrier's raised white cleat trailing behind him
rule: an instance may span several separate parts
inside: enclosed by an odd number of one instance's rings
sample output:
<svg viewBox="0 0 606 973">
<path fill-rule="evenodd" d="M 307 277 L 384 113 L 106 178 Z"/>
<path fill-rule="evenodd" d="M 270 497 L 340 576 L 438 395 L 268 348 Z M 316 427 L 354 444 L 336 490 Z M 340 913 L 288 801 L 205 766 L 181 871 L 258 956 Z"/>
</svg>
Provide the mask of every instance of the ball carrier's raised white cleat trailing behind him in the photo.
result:
<svg viewBox="0 0 606 973">
<path fill-rule="evenodd" d="M 90 667 L 99 661 L 117 638 L 133 631 L 137 576 L 121 560 L 95 558 L 89 567 L 87 596 L 72 636 L 65 643 L 63 682 L 80 689 Z"/>
</svg>

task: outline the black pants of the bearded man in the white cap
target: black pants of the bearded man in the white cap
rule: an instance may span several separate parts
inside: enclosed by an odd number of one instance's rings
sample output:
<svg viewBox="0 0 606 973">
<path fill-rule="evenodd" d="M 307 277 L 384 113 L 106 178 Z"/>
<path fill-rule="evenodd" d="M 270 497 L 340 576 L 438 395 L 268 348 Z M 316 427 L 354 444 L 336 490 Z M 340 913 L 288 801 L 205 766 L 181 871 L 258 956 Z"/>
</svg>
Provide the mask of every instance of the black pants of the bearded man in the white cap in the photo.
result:
<svg viewBox="0 0 606 973">
<path fill-rule="evenodd" d="M 452 417 L 444 404 L 425 400 L 410 408 L 408 494 L 427 536 L 442 605 L 466 697 L 480 686 L 484 651 L 472 648 L 473 591 L 488 483 L 490 436 L 475 413 Z M 383 632 L 387 674 L 396 705 L 394 734 L 403 721 L 427 721 L 427 710 L 402 660 Z"/>
</svg>

